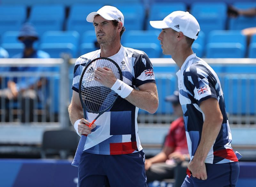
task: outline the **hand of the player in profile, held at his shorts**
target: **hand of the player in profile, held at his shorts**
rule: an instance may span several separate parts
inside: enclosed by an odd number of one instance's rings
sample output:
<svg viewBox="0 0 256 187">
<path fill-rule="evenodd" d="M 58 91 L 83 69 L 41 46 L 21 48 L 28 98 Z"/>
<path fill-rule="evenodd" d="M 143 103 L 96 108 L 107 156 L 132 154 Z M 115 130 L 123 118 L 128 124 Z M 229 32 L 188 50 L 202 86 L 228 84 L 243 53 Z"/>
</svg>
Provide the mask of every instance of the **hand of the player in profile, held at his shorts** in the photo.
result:
<svg viewBox="0 0 256 187">
<path fill-rule="evenodd" d="M 193 177 L 200 180 L 207 179 L 206 167 L 204 161 L 195 161 L 194 159 L 188 164 L 188 170 L 192 173 Z"/>
</svg>

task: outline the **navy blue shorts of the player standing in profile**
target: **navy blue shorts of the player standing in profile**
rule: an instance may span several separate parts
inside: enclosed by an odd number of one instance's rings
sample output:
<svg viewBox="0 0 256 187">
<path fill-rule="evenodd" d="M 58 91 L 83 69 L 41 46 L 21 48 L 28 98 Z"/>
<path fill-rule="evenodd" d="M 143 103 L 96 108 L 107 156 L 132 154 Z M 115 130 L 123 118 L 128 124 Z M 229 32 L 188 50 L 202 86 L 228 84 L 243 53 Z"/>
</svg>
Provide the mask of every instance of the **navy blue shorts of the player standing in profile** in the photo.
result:
<svg viewBox="0 0 256 187">
<path fill-rule="evenodd" d="M 228 162 L 222 164 L 205 163 L 207 179 L 201 180 L 186 176 L 181 187 L 235 187 L 239 176 L 239 163 Z"/>
</svg>

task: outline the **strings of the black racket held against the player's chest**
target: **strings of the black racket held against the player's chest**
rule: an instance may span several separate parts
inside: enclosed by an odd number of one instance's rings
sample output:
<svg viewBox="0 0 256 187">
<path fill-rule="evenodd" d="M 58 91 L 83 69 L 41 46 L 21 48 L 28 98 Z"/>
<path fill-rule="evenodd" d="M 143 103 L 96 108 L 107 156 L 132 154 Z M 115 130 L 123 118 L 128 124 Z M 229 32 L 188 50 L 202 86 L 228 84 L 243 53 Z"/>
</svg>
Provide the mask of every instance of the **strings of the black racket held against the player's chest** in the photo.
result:
<svg viewBox="0 0 256 187">
<path fill-rule="evenodd" d="M 94 70 L 98 67 L 110 68 L 116 78 L 120 79 L 120 74 L 116 65 L 107 59 L 99 59 L 88 66 L 83 75 L 81 95 L 85 106 L 91 111 L 106 110 L 116 99 L 117 94 L 110 88 L 94 80 Z"/>
</svg>

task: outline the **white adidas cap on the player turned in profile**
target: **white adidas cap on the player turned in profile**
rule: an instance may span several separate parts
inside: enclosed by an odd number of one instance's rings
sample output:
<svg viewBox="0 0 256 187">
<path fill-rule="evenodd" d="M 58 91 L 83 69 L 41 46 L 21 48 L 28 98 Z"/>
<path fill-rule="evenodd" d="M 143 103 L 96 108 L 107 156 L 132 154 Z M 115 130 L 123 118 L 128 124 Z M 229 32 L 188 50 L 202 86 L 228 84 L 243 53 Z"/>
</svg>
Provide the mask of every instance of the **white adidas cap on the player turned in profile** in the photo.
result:
<svg viewBox="0 0 256 187">
<path fill-rule="evenodd" d="M 164 18 L 163 21 L 150 21 L 150 25 L 156 29 L 172 28 L 177 32 L 183 32 L 185 36 L 197 39 L 200 31 L 196 18 L 184 11 L 174 11 Z"/>
</svg>

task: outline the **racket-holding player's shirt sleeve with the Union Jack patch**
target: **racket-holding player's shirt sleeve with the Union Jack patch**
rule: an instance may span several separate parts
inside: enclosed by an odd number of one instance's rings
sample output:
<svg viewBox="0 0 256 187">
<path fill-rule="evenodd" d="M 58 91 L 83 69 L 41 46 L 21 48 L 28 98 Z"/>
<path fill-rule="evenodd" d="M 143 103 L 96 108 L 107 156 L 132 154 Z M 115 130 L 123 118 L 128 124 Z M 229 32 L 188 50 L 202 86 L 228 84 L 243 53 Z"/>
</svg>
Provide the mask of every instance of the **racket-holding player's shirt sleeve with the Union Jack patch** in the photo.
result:
<svg viewBox="0 0 256 187">
<path fill-rule="evenodd" d="M 156 83 L 153 66 L 147 54 L 133 54 L 135 86 L 145 83 Z"/>
</svg>

